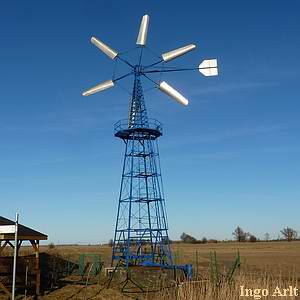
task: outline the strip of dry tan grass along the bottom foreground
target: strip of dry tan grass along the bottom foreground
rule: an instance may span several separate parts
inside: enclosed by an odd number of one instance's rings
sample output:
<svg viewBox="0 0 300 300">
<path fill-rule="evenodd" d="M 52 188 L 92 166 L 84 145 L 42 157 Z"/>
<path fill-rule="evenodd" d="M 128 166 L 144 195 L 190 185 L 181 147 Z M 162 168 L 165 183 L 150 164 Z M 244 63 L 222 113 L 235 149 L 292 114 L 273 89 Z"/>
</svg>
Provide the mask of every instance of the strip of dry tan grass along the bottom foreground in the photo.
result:
<svg viewBox="0 0 300 300">
<path fill-rule="evenodd" d="M 82 285 L 68 285 L 64 288 L 58 289 L 49 295 L 41 297 L 43 300 L 87 300 L 87 299 L 143 299 L 143 300 L 241 300 L 240 286 L 248 289 L 267 289 L 269 291 L 268 297 L 259 298 L 259 293 L 252 297 L 245 297 L 244 299 L 299 299 L 299 297 L 274 297 L 272 294 L 276 287 L 281 291 L 283 288 L 289 286 L 298 287 L 297 280 L 290 278 L 274 277 L 268 273 L 256 274 L 256 276 L 249 276 L 240 273 L 236 276 L 234 282 L 229 285 L 222 282 L 220 286 L 215 287 L 209 280 L 183 282 L 179 285 L 162 289 L 155 293 L 144 294 L 126 294 L 123 295 L 116 287 L 106 289 L 104 286 L 91 285 L 85 288 Z"/>
</svg>

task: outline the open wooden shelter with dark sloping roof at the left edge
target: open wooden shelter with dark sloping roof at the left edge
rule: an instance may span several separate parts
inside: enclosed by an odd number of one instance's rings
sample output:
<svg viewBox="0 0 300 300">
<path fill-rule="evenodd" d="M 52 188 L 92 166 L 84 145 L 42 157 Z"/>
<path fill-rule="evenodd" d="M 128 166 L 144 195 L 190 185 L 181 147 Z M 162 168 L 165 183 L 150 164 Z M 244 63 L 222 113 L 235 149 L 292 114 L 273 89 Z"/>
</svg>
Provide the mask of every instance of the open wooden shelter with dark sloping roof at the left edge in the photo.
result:
<svg viewBox="0 0 300 300">
<path fill-rule="evenodd" d="M 4 217 L 0 216 L 0 226 L 1 225 L 14 225 L 15 222 Z M 17 243 L 17 254 L 19 254 L 20 247 L 22 242 L 29 241 L 32 245 L 34 251 L 34 265 L 35 265 L 35 291 L 36 295 L 40 294 L 40 241 L 47 240 L 47 235 L 35 231 L 29 227 L 19 224 L 18 225 L 18 243 Z M 14 233 L 0 233 L 0 259 L 5 260 L 7 257 L 3 257 L 3 250 L 6 246 L 10 246 L 12 248 L 15 247 L 14 245 L 15 235 Z M 1 275 L 1 265 L 4 265 L 0 262 L 0 275 Z M 12 273 L 12 269 L 10 271 Z M 17 270 L 18 274 L 18 270 Z M 9 290 L 4 286 L 3 283 L 0 281 L 0 289 L 4 290 L 7 294 L 10 293 Z"/>
</svg>

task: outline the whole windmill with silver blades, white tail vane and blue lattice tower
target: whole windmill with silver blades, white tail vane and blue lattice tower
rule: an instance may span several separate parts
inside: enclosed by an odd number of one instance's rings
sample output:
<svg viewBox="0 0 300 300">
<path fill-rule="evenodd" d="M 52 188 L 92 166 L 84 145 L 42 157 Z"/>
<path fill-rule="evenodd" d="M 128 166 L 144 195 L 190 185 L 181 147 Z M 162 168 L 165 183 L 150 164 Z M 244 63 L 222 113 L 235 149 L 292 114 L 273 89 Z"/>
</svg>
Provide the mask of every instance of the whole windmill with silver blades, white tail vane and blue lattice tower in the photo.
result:
<svg viewBox="0 0 300 300">
<path fill-rule="evenodd" d="M 141 21 L 136 45 L 139 51 L 133 64 L 118 51 L 96 37 L 91 42 L 112 60 L 126 64 L 129 71 L 113 80 L 104 81 L 83 93 L 89 96 L 112 88 L 118 81 L 132 76 L 133 89 L 128 119 L 115 124 L 115 136 L 125 143 L 125 155 L 119 194 L 117 219 L 112 248 L 112 265 L 128 269 L 131 266 L 174 266 L 168 235 L 168 222 L 163 194 L 157 139 L 162 135 L 161 123 L 148 118 L 142 80 L 149 80 L 160 91 L 182 105 L 188 100 L 165 81 L 151 78 L 155 73 L 199 70 L 204 76 L 218 75 L 217 60 L 206 59 L 197 68 L 172 68 L 165 64 L 194 50 L 194 44 L 168 51 L 158 61 L 143 64 L 149 16 Z M 191 274 L 190 267 L 182 267 Z M 188 270 L 187 270 L 188 269 Z"/>
</svg>

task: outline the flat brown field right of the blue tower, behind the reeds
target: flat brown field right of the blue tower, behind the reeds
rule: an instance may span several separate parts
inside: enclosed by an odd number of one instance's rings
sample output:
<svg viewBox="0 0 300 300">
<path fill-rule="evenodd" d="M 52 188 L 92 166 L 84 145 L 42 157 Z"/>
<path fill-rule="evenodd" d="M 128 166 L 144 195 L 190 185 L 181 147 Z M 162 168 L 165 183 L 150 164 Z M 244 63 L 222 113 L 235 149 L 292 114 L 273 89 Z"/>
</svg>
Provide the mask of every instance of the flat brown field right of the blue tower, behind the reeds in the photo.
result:
<svg viewBox="0 0 300 300">
<path fill-rule="evenodd" d="M 300 279 L 300 241 L 296 242 L 257 242 L 257 243 L 218 243 L 218 244 L 178 244 L 174 254 L 179 253 L 179 263 L 192 263 L 195 268 L 196 251 L 199 265 L 208 267 L 209 253 L 216 251 L 219 261 L 228 265 L 239 251 L 244 271 L 295 275 Z"/>
</svg>

